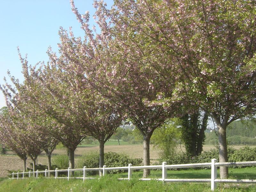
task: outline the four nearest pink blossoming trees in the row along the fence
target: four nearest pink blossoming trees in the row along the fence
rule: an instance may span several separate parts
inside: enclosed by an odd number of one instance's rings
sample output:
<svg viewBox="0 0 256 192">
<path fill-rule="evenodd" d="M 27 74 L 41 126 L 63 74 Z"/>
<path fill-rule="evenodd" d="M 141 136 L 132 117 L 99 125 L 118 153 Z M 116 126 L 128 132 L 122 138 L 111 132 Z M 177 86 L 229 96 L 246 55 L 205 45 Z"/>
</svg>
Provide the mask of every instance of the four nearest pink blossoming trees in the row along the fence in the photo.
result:
<svg viewBox="0 0 256 192">
<path fill-rule="evenodd" d="M 255 113 L 255 2 L 115 0 L 110 10 L 102 1 L 94 6 L 100 33 L 71 0 L 84 39 L 60 28 L 59 56 L 49 49 L 49 62 L 39 68 L 20 56 L 25 81 L 11 77 L 15 88 L 2 86 L 8 109 L 58 138 L 72 168 L 86 135 L 99 140 L 102 166 L 104 143 L 126 118 L 143 136 L 144 165 L 156 128 L 181 116 L 196 128 L 187 139 L 202 135 L 210 116 L 220 161 L 228 161 L 228 124 Z M 191 148 L 195 155 L 200 142 Z M 227 178 L 228 168 L 220 175 Z"/>
</svg>

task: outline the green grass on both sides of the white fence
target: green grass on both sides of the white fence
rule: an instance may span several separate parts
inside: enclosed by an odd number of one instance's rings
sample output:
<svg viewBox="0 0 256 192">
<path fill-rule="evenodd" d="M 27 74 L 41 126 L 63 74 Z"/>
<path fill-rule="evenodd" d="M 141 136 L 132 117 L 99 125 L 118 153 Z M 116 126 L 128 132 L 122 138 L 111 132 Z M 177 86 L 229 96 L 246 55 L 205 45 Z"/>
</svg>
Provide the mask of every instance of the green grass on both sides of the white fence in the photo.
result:
<svg viewBox="0 0 256 192">
<path fill-rule="evenodd" d="M 255 179 L 256 168 L 247 167 L 242 169 L 229 169 L 230 178 L 236 179 Z M 210 178 L 210 170 L 183 170 L 168 171 L 167 178 Z M 210 184 L 199 183 L 163 183 L 161 181 L 139 181 L 142 172 L 134 172 L 132 180 L 117 180 L 117 178 L 127 176 L 127 173 L 107 175 L 95 180 L 71 179 L 24 179 L 24 180 L 0 180 L 0 192 L 24 191 L 24 192 L 59 192 L 59 191 L 90 191 L 90 192 L 107 192 L 107 191 L 127 191 L 127 192 L 144 192 L 144 191 L 202 191 L 210 192 Z M 161 171 L 152 171 L 151 178 L 159 178 L 162 176 Z M 215 191 L 226 192 L 251 192 L 256 191 L 255 185 L 244 184 L 221 184 Z"/>
</svg>

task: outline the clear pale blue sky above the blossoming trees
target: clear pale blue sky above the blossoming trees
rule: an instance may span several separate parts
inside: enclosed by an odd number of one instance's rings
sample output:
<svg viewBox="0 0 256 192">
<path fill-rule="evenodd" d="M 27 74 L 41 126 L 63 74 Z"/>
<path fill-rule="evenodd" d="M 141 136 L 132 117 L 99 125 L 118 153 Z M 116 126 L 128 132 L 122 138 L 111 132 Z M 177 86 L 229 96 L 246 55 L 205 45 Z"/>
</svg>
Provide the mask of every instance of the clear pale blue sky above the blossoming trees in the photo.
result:
<svg viewBox="0 0 256 192">
<path fill-rule="evenodd" d="M 113 0 L 104 0 L 110 7 Z M 74 0 L 78 11 L 90 12 L 90 25 L 95 24 L 93 0 Z M 28 54 L 28 64 L 47 62 L 47 48 L 57 52 L 60 26 L 71 26 L 75 36 L 84 36 L 76 16 L 71 11 L 69 0 L 0 0 L 0 84 L 4 84 L 7 70 L 23 80 L 21 64 L 17 52 L 20 47 L 22 56 Z M 95 24 L 96 25 L 96 24 Z M 0 92 L 0 108 L 5 106 L 3 93 Z"/>
</svg>

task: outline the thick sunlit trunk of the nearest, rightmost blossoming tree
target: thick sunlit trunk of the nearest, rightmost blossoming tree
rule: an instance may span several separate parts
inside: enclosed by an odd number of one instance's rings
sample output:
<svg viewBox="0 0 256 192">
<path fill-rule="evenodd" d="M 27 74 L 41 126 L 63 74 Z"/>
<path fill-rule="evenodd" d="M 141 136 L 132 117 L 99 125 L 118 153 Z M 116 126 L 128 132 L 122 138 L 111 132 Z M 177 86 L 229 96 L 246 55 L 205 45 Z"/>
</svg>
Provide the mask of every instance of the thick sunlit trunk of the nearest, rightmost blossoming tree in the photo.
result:
<svg viewBox="0 0 256 192">
<path fill-rule="evenodd" d="M 227 125 L 217 124 L 220 162 L 228 162 Z M 220 179 L 228 179 L 228 167 L 220 167 Z"/>
</svg>

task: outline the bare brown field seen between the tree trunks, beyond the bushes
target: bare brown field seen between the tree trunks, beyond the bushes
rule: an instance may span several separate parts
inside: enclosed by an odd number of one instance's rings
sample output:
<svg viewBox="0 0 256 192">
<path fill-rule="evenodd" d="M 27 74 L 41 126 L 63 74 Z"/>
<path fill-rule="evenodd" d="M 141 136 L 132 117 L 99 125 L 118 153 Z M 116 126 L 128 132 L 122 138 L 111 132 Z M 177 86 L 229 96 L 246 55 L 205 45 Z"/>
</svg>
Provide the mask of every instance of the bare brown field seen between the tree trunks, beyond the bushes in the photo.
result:
<svg viewBox="0 0 256 192">
<path fill-rule="evenodd" d="M 110 145 L 114 144 L 114 145 Z M 113 152 L 124 152 L 128 154 L 131 157 L 134 158 L 140 158 L 143 156 L 143 145 L 142 144 L 136 144 L 136 145 L 124 145 L 124 141 L 120 141 L 121 145 L 118 145 L 117 141 L 107 141 L 105 145 L 105 152 L 108 151 L 113 151 Z M 235 149 L 242 148 L 244 146 L 233 146 Z M 256 146 L 250 146 L 250 147 L 256 147 Z M 209 151 L 211 148 L 215 148 L 214 145 L 204 145 L 204 151 Z M 183 145 L 179 146 L 178 149 L 179 151 L 185 152 L 185 148 Z M 94 145 L 79 145 L 78 148 L 75 151 L 76 155 L 82 155 L 85 154 L 89 151 L 99 151 L 99 146 L 97 144 Z M 12 151 L 8 151 L 8 153 L 12 153 Z M 53 154 L 67 154 L 67 150 L 65 148 L 62 149 L 55 149 L 53 151 Z M 158 159 L 158 153 L 157 149 L 153 148 L 153 145 L 150 146 L 150 159 L 151 163 L 156 162 Z M 0 177 L 6 176 L 7 171 L 6 170 L 11 170 L 11 169 L 22 169 L 23 167 L 23 161 L 20 160 L 18 156 L 5 156 L 2 155 L 0 156 Z M 27 160 L 27 162 L 31 162 L 31 160 Z M 27 166 L 29 164 L 27 163 Z M 38 157 L 38 163 L 39 164 L 47 164 L 47 158 L 43 155 Z"/>
</svg>

